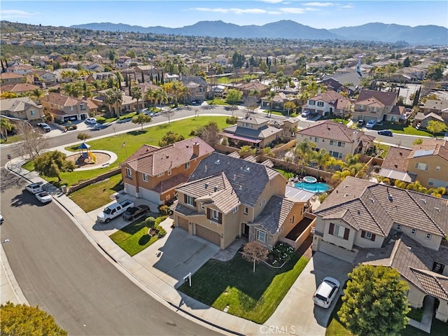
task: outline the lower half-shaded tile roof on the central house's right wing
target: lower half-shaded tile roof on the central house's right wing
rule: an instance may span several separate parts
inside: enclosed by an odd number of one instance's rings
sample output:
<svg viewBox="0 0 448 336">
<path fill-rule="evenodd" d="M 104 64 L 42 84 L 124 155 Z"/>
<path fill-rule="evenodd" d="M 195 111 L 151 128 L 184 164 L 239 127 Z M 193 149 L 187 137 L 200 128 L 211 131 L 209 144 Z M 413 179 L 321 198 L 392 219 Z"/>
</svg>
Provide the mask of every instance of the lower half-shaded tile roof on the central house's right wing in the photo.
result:
<svg viewBox="0 0 448 336">
<path fill-rule="evenodd" d="M 267 202 L 265 209 L 261 211 L 261 214 L 255 218 L 251 225 L 260 225 L 272 233 L 272 235 L 275 235 L 285 222 L 295 203 L 297 202 L 293 199 L 272 196 L 269 202 Z"/>
</svg>

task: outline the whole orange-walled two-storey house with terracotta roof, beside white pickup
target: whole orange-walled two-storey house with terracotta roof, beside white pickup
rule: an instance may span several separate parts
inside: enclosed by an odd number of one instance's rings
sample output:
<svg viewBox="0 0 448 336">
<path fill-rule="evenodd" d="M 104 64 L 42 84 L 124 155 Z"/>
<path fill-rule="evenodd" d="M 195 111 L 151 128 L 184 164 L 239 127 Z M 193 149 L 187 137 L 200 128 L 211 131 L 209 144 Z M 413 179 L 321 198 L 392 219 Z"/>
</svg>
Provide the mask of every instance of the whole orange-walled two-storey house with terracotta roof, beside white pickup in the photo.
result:
<svg viewBox="0 0 448 336">
<path fill-rule="evenodd" d="M 144 145 L 121 165 L 125 193 L 156 204 L 173 200 L 199 162 L 214 148 L 199 137 L 162 148 Z"/>
</svg>

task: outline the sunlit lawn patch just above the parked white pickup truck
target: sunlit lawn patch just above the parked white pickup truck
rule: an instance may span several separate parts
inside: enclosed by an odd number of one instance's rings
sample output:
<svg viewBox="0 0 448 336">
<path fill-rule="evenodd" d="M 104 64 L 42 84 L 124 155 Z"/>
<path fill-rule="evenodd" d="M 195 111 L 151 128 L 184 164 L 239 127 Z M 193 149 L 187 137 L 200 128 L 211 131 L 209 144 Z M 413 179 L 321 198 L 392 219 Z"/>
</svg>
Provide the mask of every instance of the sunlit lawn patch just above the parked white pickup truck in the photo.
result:
<svg viewBox="0 0 448 336">
<path fill-rule="evenodd" d="M 90 212 L 111 202 L 111 195 L 123 190 L 123 186 L 120 185 L 121 181 L 121 174 L 117 174 L 104 181 L 73 191 L 69 197 L 85 212 Z"/>
</svg>

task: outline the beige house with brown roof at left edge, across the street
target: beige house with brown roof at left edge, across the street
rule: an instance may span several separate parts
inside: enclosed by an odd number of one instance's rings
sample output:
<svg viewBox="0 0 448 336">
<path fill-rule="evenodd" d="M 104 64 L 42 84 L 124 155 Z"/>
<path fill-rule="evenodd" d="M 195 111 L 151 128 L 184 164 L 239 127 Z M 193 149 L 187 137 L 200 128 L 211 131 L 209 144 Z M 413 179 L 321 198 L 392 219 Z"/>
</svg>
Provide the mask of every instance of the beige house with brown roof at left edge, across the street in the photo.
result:
<svg viewBox="0 0 448 336">
<path fill-rule="evenodd" d="M 42 120 L 43 107 L 29 97 L 2 99 L 0 113 L 3 116 L 32 122 L 34 120 Z"/>
</svg>

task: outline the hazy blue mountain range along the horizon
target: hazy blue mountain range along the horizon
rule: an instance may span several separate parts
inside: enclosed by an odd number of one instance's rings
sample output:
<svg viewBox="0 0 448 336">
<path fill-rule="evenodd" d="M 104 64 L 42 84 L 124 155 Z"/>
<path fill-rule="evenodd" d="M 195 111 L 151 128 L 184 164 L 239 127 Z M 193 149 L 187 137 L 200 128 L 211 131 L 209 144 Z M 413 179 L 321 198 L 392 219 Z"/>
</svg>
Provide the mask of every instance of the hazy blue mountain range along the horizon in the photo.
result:
<svg viewBox="0 0 448 336">
<path fill-rule="evenodd" d="M 291 20 L 281 20 L 262 26 L 239 26 L 223 21 L 200 21 L 195 23 L 195 25 L 180 28 L 161 26 L 141 27 L 111 22 L 87 23 L 84 25 L 73 25 L 71 27 L 104 31 L 132 31 L 139 33 L 210 36 L 219 38 L 339 39 L 382 41 L 389 43 L 406 41 L 410 45 L 448 45 L 448 29 L 445 27 L 435 25 L 410 27 L 386 25 L 379 22 L 336 29 L 316 29 Z"/>
</svg>

